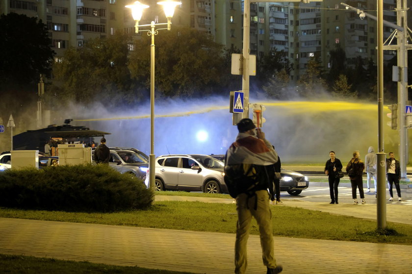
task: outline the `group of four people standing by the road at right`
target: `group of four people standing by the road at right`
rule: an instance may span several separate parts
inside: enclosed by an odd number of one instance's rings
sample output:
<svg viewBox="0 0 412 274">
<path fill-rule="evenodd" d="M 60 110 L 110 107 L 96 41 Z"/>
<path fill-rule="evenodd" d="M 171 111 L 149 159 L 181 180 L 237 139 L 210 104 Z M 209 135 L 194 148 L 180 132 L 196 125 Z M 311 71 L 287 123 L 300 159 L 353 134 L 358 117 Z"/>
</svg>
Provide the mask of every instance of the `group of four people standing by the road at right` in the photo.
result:
<svg viewBox="0 0 412 274">
<path fill-rule="evenodd" d="M 331 202 L 332 204 L 338 203 L 338 185 L 340 178 L 343 176 L 342 173 L 342 163 L 339 159 L 335 157 L 335 151 L 330 151 L 329 156 L 331 157 L 328 161 L 326 161 L 325 165 L 325 174 L 328 176 L 329 179 L 329 189 L 331 194 Z M 352 154 L 352 159 L 346 165 L 346 173 L 349 176 L 351 181 L 352 187 L 352 199 L 354 204 L 358 204 L 357 198 L 357 190 L 359 191 L 360 199 L 362 199 L 361 203 L 365 204 L 365 195 L 363 192 L 363 172 L 366 172 L 367 176 L 367 191 L 370 192 L 371 190 L 371 180 L 374 180 L 375 185 L 375 197 L 377 191 L 376 185 L 376 154 L 373 147 L 369 147 L 368 153 L 365 156 L 365 161 L 363 162 L 360 159 L 360 152 L 359 150 L 355 150 Z M 399 181 L 401 178 L 401 170 L 399 161 L 395 159 L 395 154 L 393 152 L 389 152 L 389 158 L 386 159 L 386 178 L 387 183 L 389 185 L 389 201 L 393 200 L 393 191 L 392 187 L 395 185 L 396 192 L 398 194 L 398 201 L 402 201 L 401 198 L 401 190 L 399 186 Z"/>
</svg>

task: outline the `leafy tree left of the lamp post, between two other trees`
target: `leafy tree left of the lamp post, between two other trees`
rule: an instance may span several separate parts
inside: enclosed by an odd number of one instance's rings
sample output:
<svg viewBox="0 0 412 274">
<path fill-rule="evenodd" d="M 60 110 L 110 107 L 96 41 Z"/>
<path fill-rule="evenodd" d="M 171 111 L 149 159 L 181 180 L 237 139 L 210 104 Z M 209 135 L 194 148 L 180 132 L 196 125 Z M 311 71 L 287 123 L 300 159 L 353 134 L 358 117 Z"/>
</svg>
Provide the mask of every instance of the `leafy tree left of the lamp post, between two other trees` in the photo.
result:
<svg viewBox="0 0 412 274">
<path fill-rule="evenodd" d="M 132 91 L 128 63 L 130 37 L 118 33 L 92 39 L 81 48 L 69 48 L 53 66 L 54 93 L 61 101 L 89 103 L 132 102 L 140 95 Z"/>
</svg>

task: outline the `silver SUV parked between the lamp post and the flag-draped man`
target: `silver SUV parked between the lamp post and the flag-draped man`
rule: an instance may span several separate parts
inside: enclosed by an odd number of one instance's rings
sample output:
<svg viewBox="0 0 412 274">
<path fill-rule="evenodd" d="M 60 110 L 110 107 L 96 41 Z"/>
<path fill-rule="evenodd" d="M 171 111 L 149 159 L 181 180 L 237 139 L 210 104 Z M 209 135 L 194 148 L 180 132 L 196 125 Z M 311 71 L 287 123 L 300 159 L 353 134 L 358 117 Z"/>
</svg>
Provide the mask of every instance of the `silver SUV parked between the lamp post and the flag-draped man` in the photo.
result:
<svg viewBox="0 0 412 274">
<path fill-rule="evenodd" d="M 202 154 L 162 155 L 155 162 L 155 190 L 227 193 L 223 162 Z"/>
</svg>

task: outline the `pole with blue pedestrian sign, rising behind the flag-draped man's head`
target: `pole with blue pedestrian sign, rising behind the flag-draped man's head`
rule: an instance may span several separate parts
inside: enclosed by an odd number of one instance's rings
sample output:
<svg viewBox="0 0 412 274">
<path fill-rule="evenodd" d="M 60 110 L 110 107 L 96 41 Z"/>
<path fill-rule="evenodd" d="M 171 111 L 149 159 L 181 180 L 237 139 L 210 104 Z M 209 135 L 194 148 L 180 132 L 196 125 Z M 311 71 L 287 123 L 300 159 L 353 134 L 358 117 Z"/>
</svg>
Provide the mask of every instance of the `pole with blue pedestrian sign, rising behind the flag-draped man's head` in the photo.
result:
<svg viewBox="0 0 412 274">
<path fill-rule="evenodd" d="M 242 118 L 249 118 L 249 55 L 250 55 L 250 0 L 245 0 L 243 7 L 243 114 Z"/>
</svg>

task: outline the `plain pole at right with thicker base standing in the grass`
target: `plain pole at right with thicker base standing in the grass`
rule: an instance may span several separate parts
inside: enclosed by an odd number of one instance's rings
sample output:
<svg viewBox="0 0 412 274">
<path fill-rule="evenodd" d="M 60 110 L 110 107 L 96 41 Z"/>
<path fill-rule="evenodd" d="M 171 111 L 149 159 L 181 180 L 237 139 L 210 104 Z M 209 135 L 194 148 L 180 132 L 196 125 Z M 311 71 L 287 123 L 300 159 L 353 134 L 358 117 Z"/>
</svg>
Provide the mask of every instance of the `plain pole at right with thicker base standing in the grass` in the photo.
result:
<svg viewBox="0 0 412 274">
<path fill-rule="evenodd" d="M 386 154 L 384 152 L 384 6 L 378 7 L 378 153 L 376 153 L 376 221 L 378 229 L 386 228 Z"/>
</svg>

